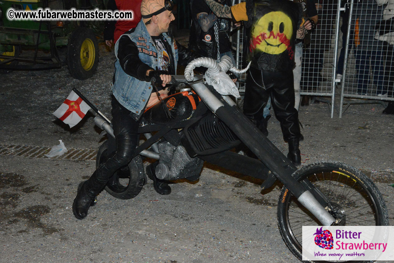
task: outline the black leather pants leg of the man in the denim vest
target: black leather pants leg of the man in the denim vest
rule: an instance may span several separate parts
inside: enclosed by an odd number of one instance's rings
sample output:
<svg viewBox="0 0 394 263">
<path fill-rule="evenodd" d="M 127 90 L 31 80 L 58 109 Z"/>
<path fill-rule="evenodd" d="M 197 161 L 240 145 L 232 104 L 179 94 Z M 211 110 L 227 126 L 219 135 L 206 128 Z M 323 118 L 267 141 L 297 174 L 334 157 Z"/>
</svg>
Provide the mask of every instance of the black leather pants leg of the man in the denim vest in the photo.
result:
<svg viewBox="0 0 394 263">
<path fill-rule="evenodd" d="M 127 165 L 132 160 L 139 138 L 139 121 L 136 121 L 134 118 L 135 114 L 119 104 L 114 97 L 112 97 L 111 104 L 115 144 L 111 138 L 108 152 L 111 153 L 112 157 L 96 170 L 97 180 L 101 183 L 106 183 L 116 170 Z M 114 145 L 116 145 L 116 149 Z"/>
</svg>

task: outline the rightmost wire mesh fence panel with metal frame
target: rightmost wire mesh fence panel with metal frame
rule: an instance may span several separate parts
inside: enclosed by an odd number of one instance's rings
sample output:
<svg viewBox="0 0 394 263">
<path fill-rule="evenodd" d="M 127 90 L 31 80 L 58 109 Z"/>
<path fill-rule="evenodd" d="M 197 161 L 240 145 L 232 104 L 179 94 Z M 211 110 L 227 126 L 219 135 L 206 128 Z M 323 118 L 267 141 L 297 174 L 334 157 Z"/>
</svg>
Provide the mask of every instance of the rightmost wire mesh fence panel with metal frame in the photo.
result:
<svg viewBox="0 0 394 263">
<path fill-rule="evenodd" d="M 344 35 L 342 49 L 345 49 L 343 58 L 345 61 L 340 117 L 343 112 L 344 97 L 394 100 L 392 17 L 394 17 L 394 0 L 352 0 L 346 6 L 341 27 Z M 339 61 L 341 62 L 341 58 Z M 353 103 L 359 102 L 350 102 Z"/>
</svg>

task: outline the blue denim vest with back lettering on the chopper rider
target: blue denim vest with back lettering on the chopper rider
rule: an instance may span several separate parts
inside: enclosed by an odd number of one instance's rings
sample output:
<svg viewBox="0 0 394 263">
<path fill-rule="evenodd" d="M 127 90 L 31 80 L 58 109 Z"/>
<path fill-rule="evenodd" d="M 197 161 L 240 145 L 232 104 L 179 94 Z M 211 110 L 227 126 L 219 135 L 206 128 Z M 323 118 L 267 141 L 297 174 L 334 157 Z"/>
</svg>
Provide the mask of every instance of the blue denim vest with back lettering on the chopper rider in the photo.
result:
<svg viewBox="0 0 394 263">
<path fill-rule="evenodd" d="M 151 38 L 151 35 L 149 35 L 142 20 L 138 23 L 134 32 L 123 35 L 130 37 L 130 40 L 136 44 L 139 59 L 153 69 L 156 69 L 156 66 L 158 66 L 158 52 L 156 44 Z M 174 41 L 171 37 L 166 33 L 163 33 L 163 36 L 168 43 L 171 44 L 171 50 L 167 50 L 167 52 L 169 52 L 169 56 L 175 55 L 174 66 L 175 71 L 177 71 L 178 49 L 175 48 Z M 119 41 L 115 44 L 115 82 L 112 86 L 112 93 L 115 96 L 115 99 L 117 99 L 122 106 L 137 114 L 136 118 L 139 118 L 149 100 L 149 97 L 151 96 L 153 87 L 151 82 L 139 80 L 138 78 L 127 75 L 125 71 L 123 71 L 117 57 L 118 49 Z"/>
</svg>

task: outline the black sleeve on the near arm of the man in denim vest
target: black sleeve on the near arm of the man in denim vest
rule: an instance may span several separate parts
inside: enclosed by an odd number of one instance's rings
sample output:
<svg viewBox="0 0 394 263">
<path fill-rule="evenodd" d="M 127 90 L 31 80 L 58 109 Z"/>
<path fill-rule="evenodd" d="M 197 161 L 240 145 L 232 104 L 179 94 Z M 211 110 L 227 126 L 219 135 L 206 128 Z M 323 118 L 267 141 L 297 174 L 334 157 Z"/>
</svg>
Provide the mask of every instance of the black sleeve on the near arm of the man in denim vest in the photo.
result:
<svg viewBox="0 0 394 263">
<path fill-rule="evenodd" d="M 147 70 L 153 68 L 139 59 L 137 45 L 128 36 L 122 35 L 118 41 L 117 58 L 123 71 L 134 78 L 145 80 Z"/>
</svg>

